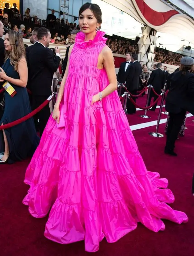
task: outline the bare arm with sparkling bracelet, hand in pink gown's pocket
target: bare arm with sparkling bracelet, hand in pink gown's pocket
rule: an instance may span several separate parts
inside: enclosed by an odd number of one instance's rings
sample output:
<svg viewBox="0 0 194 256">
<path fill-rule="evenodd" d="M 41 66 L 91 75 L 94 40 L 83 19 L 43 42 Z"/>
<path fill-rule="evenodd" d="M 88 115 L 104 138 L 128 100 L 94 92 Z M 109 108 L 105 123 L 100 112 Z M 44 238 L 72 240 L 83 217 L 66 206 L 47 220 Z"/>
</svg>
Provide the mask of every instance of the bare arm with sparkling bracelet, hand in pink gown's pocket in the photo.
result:
<svg viewBox="0 0 194 256">
<path fill-rule="evenodd" d="M 108 46 L 105 46 L 101 52 L 102 54 L 102 64 L 106 70 L 108 79 L 109 79 L 109 85 L 106 86 L 106 88 L 102 91 L 102 98 L 108 96 L 111 92 L 115 91 L 117 89 L 117 80 L 116 80 L 116 73 L 114 69 L 114 59 L 111 49 Z M 94 102 L 100 100 L 99 93 L 94 95 L 92 98 L 92 104 Z"/>
</svg>

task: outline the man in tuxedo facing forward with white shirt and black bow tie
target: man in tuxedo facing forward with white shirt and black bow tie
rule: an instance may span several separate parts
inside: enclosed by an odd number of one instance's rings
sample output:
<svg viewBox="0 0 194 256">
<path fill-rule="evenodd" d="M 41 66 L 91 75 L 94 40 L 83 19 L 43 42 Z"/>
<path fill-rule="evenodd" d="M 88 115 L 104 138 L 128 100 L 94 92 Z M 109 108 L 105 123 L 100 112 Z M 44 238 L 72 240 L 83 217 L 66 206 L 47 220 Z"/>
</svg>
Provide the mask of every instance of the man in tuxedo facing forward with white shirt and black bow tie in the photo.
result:
<svg viewBox="0 0 194 256">
<path fill-rule="evenodd" d="M 132 65 L 131 57 L 132 57 L 131 52 L 127 52 L 126 61 L 121 63 L 118 75 L 116 77 L 119 83 L 125 83 L 126 81 L 127 75 L 129 73 L 129 68 Z"/>
</svg>

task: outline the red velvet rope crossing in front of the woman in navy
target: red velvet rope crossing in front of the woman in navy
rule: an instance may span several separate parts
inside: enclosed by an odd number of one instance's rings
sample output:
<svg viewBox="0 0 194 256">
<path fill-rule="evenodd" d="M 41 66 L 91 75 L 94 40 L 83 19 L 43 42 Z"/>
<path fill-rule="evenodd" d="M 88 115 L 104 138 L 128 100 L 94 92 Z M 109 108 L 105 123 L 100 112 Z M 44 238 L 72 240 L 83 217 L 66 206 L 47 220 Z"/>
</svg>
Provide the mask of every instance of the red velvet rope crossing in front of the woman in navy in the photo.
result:
<svg viewBox="0 0 194 256">
<path fill-rule="evenodd" d="M 16 120 L 16 121 L 13 121 L 9 124 L 6 124 L 6 125 L 1 125 L 0 126 L 0 130 L 4 130 L 4 129 L 8 129 L 12 126 L 15 126 L 15 125 L 19 125 L 21 124 L 22 122 L 28 120 L 29 118 L 33 117 L 35 114 L 37 114 L 41 109 L 43 109 L 50 101 L 47 99 L 45 100 L 38 108 L 34 109 L 32 112 L 30 112 L 28 115 Z"/>
</svg>

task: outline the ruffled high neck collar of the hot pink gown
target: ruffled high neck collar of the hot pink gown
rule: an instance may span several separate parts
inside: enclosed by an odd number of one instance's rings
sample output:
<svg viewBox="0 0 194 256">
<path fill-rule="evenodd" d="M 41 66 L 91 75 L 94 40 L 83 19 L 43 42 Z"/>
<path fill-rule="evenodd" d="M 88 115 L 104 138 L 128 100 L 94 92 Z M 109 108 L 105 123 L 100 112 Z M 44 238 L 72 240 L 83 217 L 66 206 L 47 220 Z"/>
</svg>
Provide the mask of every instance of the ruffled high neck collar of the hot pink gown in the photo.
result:
<svg viewBox="0 0 194 256">
<path fill-rule="evenodd" d="M 84 41 L 85 40 L 85 34 L 83 32 L 79 32 L 76 35 L 75 42 L 78 44 L 81 48 L 85 48 L 89 45 L 93 45 L 96 43 L 106 43 L 107 38 L 104 37 L 105 32 L 103 31 L 97 31 L 96 35 L 93 40 Z"/>
</svg>

